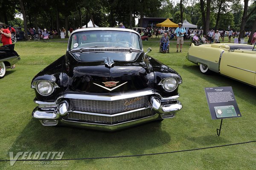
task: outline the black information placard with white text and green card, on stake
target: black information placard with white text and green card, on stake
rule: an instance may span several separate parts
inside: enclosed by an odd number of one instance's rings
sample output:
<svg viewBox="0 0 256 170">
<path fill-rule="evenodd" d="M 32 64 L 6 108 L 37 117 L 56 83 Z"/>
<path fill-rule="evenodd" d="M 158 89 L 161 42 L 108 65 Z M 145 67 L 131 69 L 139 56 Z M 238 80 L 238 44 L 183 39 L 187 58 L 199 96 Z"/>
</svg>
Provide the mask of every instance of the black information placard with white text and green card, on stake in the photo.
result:
<svg viewBox="0 0 256 170">
<path fill-rule="evenodd" d="M 212 119 L 241 117 L 232 87 L 204 88 Z"/>
</svg>

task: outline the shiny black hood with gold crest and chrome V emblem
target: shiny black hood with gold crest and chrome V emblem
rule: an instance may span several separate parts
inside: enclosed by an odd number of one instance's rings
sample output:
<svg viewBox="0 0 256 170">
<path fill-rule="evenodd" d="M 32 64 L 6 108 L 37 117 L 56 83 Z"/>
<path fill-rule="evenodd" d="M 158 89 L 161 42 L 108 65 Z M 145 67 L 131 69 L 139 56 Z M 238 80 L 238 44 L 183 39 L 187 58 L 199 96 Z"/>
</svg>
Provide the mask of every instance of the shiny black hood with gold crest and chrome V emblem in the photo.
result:
<svg viewBox="0 0 256 170">
<path fill-rule="evenodd" d="M 90 53 L 90 57 L 105 58 L 107 55 L 116 58 L 120 53 Z M 88 54 L 79 54 L 82 55 Z M 144 91 L 153 89 L 154 74 L 149 72 L 143 52 L 124 53 L 133 61 L 117 61 L 109 66 L 105 60 L 81 62 L 75 59 L 75 54 L 65 56 L 63 68 L 64 93 L 96 93 L 114 94 L 129 91 Z M 108 59 L 111 60 L 112 57 Z"/>
</svg>

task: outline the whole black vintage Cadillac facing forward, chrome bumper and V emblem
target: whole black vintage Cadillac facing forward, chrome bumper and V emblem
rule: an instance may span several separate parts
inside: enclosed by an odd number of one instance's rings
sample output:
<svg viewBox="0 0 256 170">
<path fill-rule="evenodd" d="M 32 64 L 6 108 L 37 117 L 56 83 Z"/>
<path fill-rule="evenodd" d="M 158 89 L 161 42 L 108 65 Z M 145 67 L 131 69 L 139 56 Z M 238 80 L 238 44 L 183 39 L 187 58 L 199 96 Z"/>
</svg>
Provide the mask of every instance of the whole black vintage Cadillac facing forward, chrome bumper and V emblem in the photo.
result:
<svg viewBox="0 0 256 170">
<path fill-rule="evenodd" d="M 182 79 L 144 53 L 140 34 L 124 28 L 73 31 L 64 56 L 31 82 L 42 125 L 117 130 L 173 118 Z"/>
</svg>

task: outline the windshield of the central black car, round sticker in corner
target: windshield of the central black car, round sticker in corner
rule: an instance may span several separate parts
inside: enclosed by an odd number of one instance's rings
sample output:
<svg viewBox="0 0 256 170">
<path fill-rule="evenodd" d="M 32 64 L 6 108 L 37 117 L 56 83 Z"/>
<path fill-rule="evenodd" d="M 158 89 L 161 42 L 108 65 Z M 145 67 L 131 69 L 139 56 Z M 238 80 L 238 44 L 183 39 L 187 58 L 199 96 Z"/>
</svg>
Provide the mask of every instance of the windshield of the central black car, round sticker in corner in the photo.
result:
<svg viewBox="0 0 256 170">
<path fill-rule="evenodd" d="M 142 50 L 140 37 L 128 31 L 81 31 L 72 34 L 69 50 L 80 48 L 135 48 Z"/>
</svg>

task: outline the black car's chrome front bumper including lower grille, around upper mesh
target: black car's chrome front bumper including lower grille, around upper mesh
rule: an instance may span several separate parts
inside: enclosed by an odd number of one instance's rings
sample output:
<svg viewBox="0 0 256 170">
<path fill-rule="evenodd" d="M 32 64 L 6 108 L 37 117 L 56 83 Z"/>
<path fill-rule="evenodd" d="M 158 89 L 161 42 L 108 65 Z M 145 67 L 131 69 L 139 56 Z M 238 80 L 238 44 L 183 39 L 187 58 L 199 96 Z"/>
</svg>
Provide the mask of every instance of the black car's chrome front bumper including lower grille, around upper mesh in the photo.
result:
<svg viewBox="0 0 256 170">
<path fill-rule="evenodd" d="M 138 97 L 145 94 L 149 96 L 148 106 L 113 114 L 73 110 L 68 99 L 70 97 L 81 98 L 81 96 L 62 96 L 55 103 L 35 101 L 38 107 L 33 110 L 32 117 L 39 119 L 45 126 L 71 125 L 100 130 L 118 130 L 154 120 L 173 118 L 175 113 L 182 108 L 182 104 L 177 100 L 179 95 L 162 98 L 159 94 L 148 91 L 132 96 Z M 83 97 L 90 98 L 91 96 L 84 95 Z M 131 95 L 123 97 L 131 97 Z M 116 98 L 111 96 L 111 98 L 101 97 L 99 99 L 117 100 L 120 98 L 119 96 Z"/>
</svg>

